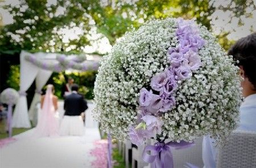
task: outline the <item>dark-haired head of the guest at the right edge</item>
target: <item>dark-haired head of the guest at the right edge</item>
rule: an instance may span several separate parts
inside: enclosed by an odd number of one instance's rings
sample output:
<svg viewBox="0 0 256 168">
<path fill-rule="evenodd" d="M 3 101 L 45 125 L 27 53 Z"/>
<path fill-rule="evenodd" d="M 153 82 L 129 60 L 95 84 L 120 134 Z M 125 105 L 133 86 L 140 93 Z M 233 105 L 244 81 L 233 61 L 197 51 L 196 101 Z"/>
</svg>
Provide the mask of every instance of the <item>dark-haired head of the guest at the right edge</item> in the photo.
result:
<svg viewBox="0 0 256 168">
<path fill-rule="evenodd" d="M 243 96 L 256 93 L 256 33 L 243 37 L 230 48 L 229 55 L 233 55 L 235 61 L 239 61 L 243 80 Z"/>
</svg>

